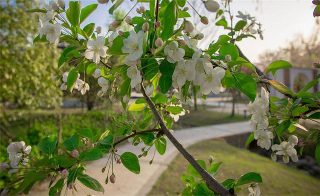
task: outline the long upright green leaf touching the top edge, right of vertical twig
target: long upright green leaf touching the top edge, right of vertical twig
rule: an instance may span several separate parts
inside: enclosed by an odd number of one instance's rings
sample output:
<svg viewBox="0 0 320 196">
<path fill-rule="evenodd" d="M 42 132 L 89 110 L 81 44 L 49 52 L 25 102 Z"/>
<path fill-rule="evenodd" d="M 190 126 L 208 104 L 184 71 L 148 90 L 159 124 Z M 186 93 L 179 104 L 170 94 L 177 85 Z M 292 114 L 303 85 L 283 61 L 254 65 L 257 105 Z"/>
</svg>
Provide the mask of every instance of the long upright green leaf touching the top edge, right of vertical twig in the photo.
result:
<svg viewBox="0 0 320 196">
<path fill-rule="evenodd" d="M 176 7 L 175 1 L 173 0 L 165 8 L 165 13 L 163 16 L 163 30 L 161 33 L 161 38 L 163 41 L 166 41 L 171 37 L 174 25 L 176 25 L 178 20 L 178 16 L 178 9 Z"/>
</svg>

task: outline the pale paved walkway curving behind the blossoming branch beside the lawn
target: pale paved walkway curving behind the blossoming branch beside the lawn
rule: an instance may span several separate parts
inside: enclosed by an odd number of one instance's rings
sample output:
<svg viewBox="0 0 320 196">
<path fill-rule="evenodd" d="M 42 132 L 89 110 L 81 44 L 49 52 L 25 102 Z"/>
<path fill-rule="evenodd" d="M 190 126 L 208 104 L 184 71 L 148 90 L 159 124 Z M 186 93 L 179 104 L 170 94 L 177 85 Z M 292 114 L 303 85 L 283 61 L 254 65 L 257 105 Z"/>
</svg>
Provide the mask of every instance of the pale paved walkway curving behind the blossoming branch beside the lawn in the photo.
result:
<svg viewBox="0 0 320 196">
<path fill-rule="evenodd" d="M 184 147 L 189 147 L 192 144 L 213 139 L 220 138 L 240 133 L 249 132 L 248 122 L 239 123 L 226 123 L 217 124 L 210 126 L 194 127 L 184 130 L 175 131 L 174 135 L 177 140 Z M 125 151 L 130 151 L 135 154 L 141 153 L 141 148 L 143 146 L 139 145 L 133 147 L 130 144 L 122 145 L 118 148 L 118 154 L 122 154 Z M 214 149 L 212 149 L 214 151 Z M 116 183 L 111 184 L 110 182 L 105 185 L 104 180 L 106 178 L 106 172 L 101 173 L 101 169 L 104 167 L 107 157 L 97 160 L 87 165 L 87 174 L 96 178 L 103 186 L 105 193 L 104 195 L 109 196 L 144 196 L 149 193 L 153 185 L 157 182 L 161 173 L 166 170 L 168 164 L 176 157 L 178 150 L 167 140 L 167 150 L 163 156 L 156 153 L 153 164 L 150 165 L 149 161 L 152 159 L 154 149 L 151 149 L 146 157 L 140 158 L 140 174 L 134 174 L 129 172 L 123 165 L 115 164 L 114 173 L 116 175 Z M 196 155 L 194 155 L 196 157 Z M 186 168 L 187 170 L 187 168 Z M 37 190 L 37 192 L 31 192 L 32 196 L 35 195 L 47 195 L 47 183 L 43 183 Z M 102 195 L 100 192 L 94 192 L 92 190 L 86 189 L 89 194 L 95 196 Z M 64 193 L 64 192 L 63 192 Z M 72 195 L 71 192 L 67 195 Z M 84 192 L 78 187 L 78 193 L 76 195 L 85 195 Z"/>
</svg>

